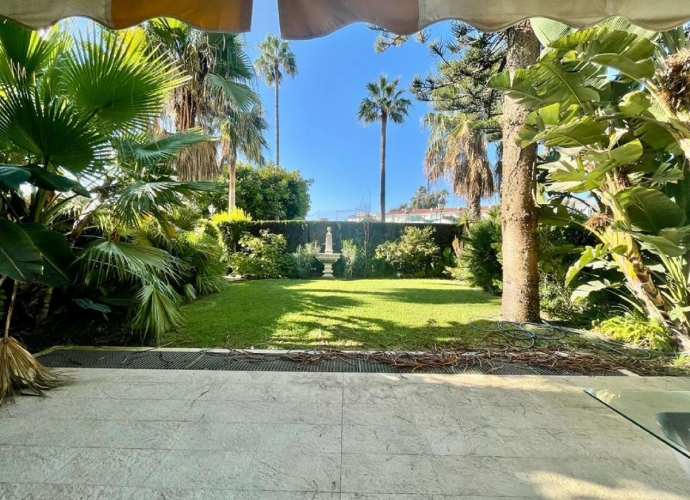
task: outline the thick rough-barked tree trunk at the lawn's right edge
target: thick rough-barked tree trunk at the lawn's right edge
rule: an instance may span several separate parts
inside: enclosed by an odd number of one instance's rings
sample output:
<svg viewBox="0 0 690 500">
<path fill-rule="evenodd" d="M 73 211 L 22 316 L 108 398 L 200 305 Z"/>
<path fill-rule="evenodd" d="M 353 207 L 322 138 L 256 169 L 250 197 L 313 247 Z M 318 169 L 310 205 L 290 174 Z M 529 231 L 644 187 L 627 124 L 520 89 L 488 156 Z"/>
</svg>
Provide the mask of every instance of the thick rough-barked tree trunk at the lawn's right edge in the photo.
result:
<svg viewBox="0 0 690 500">
<path fill-rule="evenodd" d="M 529 21 L 507 30 L 506 68 L 514 71 L 535 63 L 539 41 Z M 537 146 L 520 148 L 518 133 L 529 110 L 515 100 L 503 101 L 503 172 L 501 226 L 503 232 L 502 316 L 510 321 L 539 321 L 537 269 L 537 207 L 534 165 Z"/>
</svg>

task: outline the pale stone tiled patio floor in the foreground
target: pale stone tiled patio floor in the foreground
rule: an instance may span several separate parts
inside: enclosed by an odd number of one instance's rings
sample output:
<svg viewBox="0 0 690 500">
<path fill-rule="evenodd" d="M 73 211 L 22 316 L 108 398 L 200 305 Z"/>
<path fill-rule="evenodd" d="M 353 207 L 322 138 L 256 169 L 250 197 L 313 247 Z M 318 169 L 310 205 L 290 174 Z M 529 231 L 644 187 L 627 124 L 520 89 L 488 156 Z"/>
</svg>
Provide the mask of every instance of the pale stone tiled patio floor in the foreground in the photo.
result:
<svg viewBox="0 0 690 500">
<path fill-rule="evenodd" d="M 690 379 L 73 373 L 0 408 L 0 499 L 690 499 L 669 447 L 582 392 Z"/>
</svg>

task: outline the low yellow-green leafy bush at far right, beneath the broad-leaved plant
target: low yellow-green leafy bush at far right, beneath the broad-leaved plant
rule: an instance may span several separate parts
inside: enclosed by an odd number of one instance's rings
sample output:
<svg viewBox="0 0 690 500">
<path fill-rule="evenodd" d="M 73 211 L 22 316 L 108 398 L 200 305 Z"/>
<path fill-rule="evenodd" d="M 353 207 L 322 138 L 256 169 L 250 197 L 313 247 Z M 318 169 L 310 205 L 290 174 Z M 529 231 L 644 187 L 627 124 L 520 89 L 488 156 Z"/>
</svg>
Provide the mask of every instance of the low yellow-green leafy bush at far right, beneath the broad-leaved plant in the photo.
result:
<svg viewBox="0 0 690 500">
<path fill-rule="evenodd" d="M 673 338 L 657 319 L 648 319 L 640 314 L 626 313 L 601 322 L 594 327 L 607 337 L 620 342 L 634 344 L 657 351 L 673 350 Z"/>
</svg>

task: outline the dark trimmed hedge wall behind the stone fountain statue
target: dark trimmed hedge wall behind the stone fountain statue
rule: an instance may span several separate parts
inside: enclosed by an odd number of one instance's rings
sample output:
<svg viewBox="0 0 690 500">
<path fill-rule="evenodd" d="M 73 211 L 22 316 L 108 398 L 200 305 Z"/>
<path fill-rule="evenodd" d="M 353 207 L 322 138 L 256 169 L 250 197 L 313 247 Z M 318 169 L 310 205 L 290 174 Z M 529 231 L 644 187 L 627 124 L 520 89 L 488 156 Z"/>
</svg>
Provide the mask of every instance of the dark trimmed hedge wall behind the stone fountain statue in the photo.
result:
<svg viewBox="0 0 690 500">
<path fill-rule="evenodd" d="M 400 224 L 397 222 L 323 222 L 323 221 L 251 221 L 222 222 L 218 227 L 223 234 L 228 250 L 237 250 L 242 233 L 259 236 L 268 229 L 273 234 L 282 234 L 287 243 L 287 251 L 294 252 L 298 246 L 310 241 L 318 241 L 323 251 L 326 242 L 326 228 L 333 234 L 333 251 L 340 252 L 343 240 L 354 240 L 361 245 L 364 241 L 365 225 L 369 226 L 368 247 L 373 250 L 381 243 L 400 238 L 407 226 L 434 228 L 434 242 L 443 251 L 453 244 L 455 237 L 462 235 L 462 228 L 454 224 Z"/>
</svg>

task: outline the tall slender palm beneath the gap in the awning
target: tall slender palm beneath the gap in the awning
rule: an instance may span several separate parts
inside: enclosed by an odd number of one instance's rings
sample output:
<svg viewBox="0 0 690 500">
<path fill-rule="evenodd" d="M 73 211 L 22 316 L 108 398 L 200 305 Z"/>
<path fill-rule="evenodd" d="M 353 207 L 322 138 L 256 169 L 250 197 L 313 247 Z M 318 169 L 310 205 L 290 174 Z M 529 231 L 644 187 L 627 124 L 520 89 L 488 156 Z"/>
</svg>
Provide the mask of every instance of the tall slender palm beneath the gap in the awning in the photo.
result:
<svg viewBox="0 0 690 500">
<path fill-rule="evenodd" d="M 259 44 L 261 55 L 254 65 L 260 76 L 266 80 L 266 85 L 275 88 L 276 101 L 276 165 L 280 165 L 280 84 L 283 75 L 294 77 L 297 74 L 297 60 L 290 49 L 290 42 L 281 40 L 275 35 L 268 35 Z"/>
</svg>

